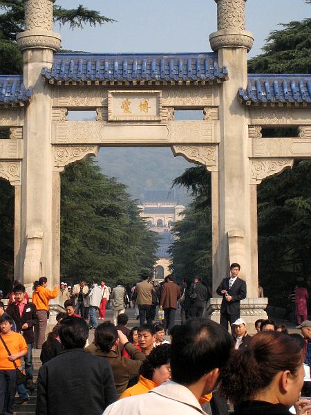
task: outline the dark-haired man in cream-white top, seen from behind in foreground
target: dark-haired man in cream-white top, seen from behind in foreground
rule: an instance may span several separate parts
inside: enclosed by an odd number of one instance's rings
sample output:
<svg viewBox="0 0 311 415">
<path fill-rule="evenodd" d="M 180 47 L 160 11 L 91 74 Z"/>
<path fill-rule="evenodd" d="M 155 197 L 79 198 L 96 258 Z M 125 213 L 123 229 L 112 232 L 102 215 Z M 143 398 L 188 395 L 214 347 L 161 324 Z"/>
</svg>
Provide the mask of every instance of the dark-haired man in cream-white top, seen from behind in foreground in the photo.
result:
<svg viewBox="0 0 311 415">
<path fill-rule="evenodd" d="M 231 335 L 216 322 L 188 320 L 173 335 L 172 380 L 148 394 L 118 400 L 104 415 L 206 415 L 199 399 L 218 385 L 220 369 L 229 359 L 232 345 Z"/>
</svg>

